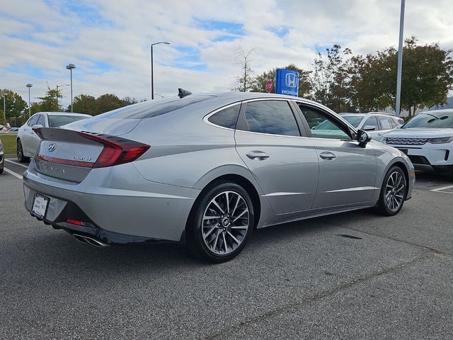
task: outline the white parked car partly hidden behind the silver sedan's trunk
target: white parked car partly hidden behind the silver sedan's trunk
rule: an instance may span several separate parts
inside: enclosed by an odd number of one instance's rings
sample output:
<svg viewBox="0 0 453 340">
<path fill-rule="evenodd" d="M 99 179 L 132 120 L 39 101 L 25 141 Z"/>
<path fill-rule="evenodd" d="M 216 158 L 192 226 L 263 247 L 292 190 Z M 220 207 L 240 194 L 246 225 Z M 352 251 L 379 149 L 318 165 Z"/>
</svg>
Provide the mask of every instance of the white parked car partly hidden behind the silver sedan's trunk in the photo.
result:
<svg viewBox="0 0 453 340">
<path fill-rule="evenodd" d="M 19 128 L 17 134 L 17 159 L 19 162 L 28 162 L 35 155 L 40 137 L 33 128 L 59 128 L 77 120 L 91 118 L 83 113 L 66 112 L 38 112 L 32 115 L 27 122 Z"/>
</svg>

